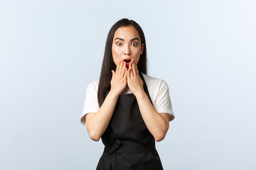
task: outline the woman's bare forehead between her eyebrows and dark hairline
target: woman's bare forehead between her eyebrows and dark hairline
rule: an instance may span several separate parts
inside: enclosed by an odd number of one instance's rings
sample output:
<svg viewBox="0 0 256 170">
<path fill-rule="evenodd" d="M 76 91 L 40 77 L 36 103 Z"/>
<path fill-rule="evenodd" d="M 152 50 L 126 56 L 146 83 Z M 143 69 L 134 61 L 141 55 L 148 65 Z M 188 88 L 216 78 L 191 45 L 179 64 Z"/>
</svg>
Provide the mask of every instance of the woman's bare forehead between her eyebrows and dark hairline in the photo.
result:
<svg viewBox="0 0 256 170">
<path fill-rule="evenodd" d="M 139 31 L 135 29 L 133 26 L 122 26 L 117 29 L 117 31 L 114 34 L 114 40 L 115 38 L 122 38 L 122 39 L 132 39 L 132 38 L 139 38 Z"/>
</svg>

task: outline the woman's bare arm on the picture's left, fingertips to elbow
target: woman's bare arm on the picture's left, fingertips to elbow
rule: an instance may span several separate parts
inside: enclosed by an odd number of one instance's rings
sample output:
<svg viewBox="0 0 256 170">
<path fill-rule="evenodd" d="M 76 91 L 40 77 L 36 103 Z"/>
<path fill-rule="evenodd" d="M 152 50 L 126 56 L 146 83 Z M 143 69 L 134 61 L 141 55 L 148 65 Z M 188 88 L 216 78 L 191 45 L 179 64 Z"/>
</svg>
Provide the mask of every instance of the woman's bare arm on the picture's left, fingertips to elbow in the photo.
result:
<svg viewBox="0 0 256 170">
<path fill-rule="evenodd" d="M 99 141 L 115 110 L 117 99 L 127 85 L 126 62 L 121 60 L 116 71 L 112 71 L 111 89 L 97 113 L 85 115 L 85 124 L 90 138 Z"/>
</svg>

